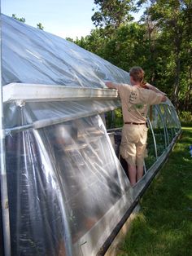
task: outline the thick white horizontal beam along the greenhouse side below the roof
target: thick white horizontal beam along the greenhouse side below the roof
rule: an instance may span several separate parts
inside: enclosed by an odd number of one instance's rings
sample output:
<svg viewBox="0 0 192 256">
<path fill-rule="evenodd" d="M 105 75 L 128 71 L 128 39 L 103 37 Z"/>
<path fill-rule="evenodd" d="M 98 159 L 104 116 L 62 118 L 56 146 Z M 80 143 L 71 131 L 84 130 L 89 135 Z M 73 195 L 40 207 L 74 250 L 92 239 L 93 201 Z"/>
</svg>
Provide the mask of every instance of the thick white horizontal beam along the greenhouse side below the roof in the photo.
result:
<svg viewBox="0 0 192 256">
<path fill-rule="evenodd" d="M 61 85 L 11 83 L 3 86 L 2 90 L 3 102 L 117 98 L 117 90 Z"/>
</svg>

